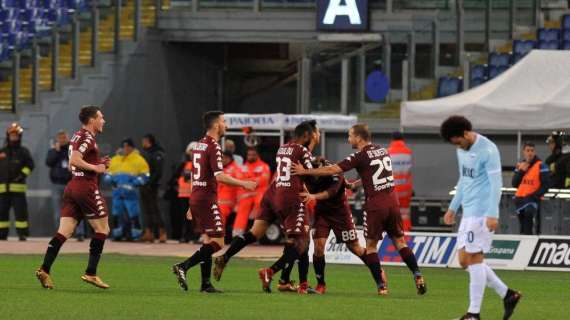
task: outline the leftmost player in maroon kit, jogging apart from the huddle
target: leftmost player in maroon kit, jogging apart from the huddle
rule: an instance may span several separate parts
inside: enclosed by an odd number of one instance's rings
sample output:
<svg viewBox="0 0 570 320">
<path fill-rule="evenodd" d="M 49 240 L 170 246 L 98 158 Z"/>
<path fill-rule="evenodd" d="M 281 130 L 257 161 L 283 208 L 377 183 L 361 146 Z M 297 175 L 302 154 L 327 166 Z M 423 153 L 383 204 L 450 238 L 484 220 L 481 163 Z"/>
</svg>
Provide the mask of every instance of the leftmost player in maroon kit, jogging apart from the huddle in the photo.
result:
<svg viewBox="0 0 570 320">
<path fill-rule="evenodd" d="M 79 112 L 79 121 L 82 128 L 75 133 L 69 147 L 72 179 L 63 194 L 59 229 L 49 242 L 43 264 L 36 271 L 36 277 L 46 289 L 53 289 L 51 266 L 59 249 L 71 237 L 81 219 L 87 219 L 95 231 L 89 244 L 87 270 L 81 279 L 102 289 L 109 288 L 97 276 L 97 265 L 109 234 L 107 205 L 98 187 L 98 175 L 104 173 L 109 166 L 109 158 L 99 158 L 99 148 L 95 142 L 95 136 L 103 132 L 105 119 L 99 107 L 86 106 Z"/>
</svg>

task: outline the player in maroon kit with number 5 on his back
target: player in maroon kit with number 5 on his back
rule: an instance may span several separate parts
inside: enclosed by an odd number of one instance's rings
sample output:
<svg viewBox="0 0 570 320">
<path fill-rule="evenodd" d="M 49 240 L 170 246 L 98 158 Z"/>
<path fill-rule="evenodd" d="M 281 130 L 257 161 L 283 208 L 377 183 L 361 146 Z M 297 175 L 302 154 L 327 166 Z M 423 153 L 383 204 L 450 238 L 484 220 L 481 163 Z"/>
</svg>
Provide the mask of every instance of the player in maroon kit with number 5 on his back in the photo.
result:
<svg viewBox="0 0 570 320">
<path fill-rule="evenodd" d="M 224 113 L 208 111 L 203 116 L 206 135 L 198 141 L 192 150 L 192 194 L 187 218 L 194 219 L 195 229 L 202 233 L 202 247 L 190 258 L 172 266 L 172 272 L 178 284 L 188 290 L 186 273 L 188 269 L 200 264 L 202 274 L 201 292 L 221 292 L 212 286 L 210 274 L 212 271 L 212 254 L 224 246 L 224 222 L 217 205 L 218 182 L 232 186 L 255 190 L 254 181 L 238 180 L 223 172 L 222 148 L 218 141 L 226 133 Z"/>
</svg>

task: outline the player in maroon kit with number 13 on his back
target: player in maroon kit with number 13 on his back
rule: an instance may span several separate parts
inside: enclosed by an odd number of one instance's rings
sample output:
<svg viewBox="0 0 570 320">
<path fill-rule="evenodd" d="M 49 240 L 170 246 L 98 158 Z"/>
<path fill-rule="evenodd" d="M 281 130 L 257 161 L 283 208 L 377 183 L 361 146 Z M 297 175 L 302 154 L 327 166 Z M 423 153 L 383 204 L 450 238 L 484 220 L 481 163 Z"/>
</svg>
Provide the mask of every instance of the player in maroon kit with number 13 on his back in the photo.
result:
<svg viewBox="0 0 570 320">
<path fill-rule="evenodd" d="M 285 266 L 291 265 L 299 255 L 306 251 L 308 224 L 305 206 L 299 197 L 299 193 L 303 191 L 303 181 L 293 178 L 290 169 L 291 164 L 295 161 L 302 161 L 305 166 L 311 165 L 311 154 L 305 146 L 315 140 L 318 142 L 319 133 L 315 131 L 314 124 L 304 121 L 295 127 L 294 135 L 291 143 L 281 146 L 278 150 L 276 155 L 277 178 L 265 192 L 261 201 L 261 212 L 255 219 L 252 228 L 244 235 L 234 237 L 228 250 L 223 255 L 216 257 L 214 268 L 216 280 L 219 281 L 221 278 L 222 272 L 231 257 L 261 238 L 270 223 L 276 219 L 281 220 L 288 236 L 288 242 L 283 250 L 283 255 L 275 264 L 270 268 L 259 270 L 263 290 L 270 292 L 273 274 Z"/>
</svg>

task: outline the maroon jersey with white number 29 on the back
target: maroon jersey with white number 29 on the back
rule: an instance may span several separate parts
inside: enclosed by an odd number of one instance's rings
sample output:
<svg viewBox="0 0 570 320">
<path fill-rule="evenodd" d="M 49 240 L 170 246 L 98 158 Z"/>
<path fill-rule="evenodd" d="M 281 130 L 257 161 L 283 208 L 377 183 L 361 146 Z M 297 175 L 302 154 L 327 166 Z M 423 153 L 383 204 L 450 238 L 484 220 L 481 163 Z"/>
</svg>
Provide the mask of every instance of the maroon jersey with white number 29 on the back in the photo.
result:
<svg viewBox="0 0 570 320">
<path fill-rule="evenodd" d="M 365 209 L 374 211 L 380 207 L 397 204 L 392 175 L 392 160 L 388 150 L 369 144 L 338 163 L 343 171 L 356 169 L 366 196 Z"/>
</svg>

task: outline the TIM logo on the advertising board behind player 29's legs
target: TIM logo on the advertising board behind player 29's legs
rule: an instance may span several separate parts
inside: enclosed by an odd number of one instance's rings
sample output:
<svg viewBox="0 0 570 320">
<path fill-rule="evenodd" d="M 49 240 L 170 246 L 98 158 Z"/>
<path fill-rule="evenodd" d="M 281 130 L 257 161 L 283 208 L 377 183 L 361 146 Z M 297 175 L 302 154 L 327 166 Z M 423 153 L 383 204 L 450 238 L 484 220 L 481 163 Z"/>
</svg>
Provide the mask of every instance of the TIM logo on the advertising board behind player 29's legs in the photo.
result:
<svg viewBox="0 0 570 320">
<path fill-rule="evenodd" d="M 455 236 L 409 236 L 408 247 L 412 249 L 420 265 L 446 266 L 453 257 L 457 244 Z M 382 262 L 402 262 L 398 249 L 388 237 L 378 250 Z"/>
</svg>

